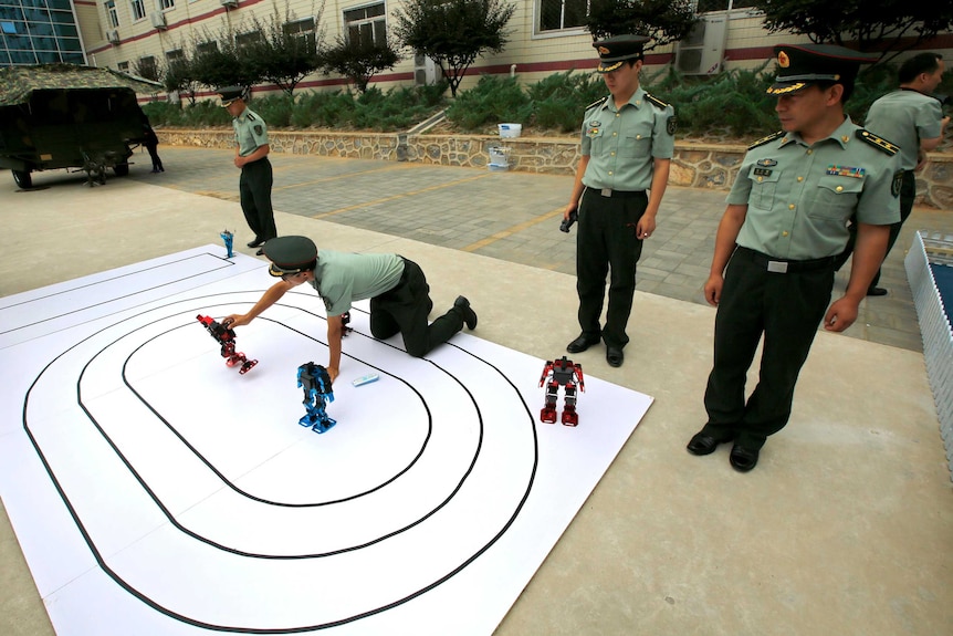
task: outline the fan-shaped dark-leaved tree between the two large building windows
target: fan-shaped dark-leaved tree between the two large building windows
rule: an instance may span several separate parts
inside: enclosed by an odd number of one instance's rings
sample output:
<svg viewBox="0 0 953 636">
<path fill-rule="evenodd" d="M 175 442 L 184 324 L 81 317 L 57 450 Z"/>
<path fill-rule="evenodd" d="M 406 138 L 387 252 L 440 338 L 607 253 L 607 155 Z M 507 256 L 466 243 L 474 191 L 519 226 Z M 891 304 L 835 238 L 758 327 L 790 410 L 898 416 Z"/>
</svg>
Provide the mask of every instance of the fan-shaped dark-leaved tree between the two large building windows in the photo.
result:
<svg viewBox="0 0 953 636">
<path fill-rule="evenodd" d="M 476 58 L 499 53 L 515 4 L 504 0 L 407 0 L 394 13 L 395 32 L 404 46 L 433 60 L 455 97 L 457 88 Z"/>
</svg>

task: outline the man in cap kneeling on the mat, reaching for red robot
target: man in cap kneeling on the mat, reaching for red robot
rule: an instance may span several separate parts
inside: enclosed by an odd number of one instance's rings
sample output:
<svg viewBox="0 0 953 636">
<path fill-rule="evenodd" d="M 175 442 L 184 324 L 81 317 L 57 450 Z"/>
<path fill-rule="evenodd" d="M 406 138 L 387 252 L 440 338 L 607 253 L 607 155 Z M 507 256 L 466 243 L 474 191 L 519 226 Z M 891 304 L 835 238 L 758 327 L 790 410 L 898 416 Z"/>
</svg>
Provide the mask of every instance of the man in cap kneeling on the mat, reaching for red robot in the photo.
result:
<svg viewBox="0 0 953 636">
<path fill-rule="evenodd" d="M 344 314 L 354 301 L 370 299 L 370 333 L 385 340 L 404 337 L 407 353 L 423 357 L 467 325 L 476 327 L 470 301 L 458 296 L 453 306 L 428 324 L 433 309 L 430 285 L 420 265 L 398 254 L 358 254 L 322 249 L 307 237 L 280 237 L 264 244 L 272 262 L 269 273 L 280 281 L 270 286 L 245 314 L 224 319 L 229 327 L 250 323 L 293 288 L 308 283 L 324 301 L 327 312 L 327 374 L 332 382 L 341 373 L 341 338 Z"/>
</svg>

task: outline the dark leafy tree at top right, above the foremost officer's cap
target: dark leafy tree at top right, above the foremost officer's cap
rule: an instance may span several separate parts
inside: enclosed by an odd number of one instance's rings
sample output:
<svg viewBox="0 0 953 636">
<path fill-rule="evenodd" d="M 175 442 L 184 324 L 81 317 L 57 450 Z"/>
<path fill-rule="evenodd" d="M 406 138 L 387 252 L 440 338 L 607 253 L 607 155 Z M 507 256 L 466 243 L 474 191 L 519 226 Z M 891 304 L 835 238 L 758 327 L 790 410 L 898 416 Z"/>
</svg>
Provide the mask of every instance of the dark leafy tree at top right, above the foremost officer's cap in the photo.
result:
<svg viewBox="0 0 953 636">
<path fill-rule="evenodd" d="M 771 33 L 792 32 L 811 42 L 855 44 L 888 61 L 953 28 L 953 2 L 922 0 L 753 0 Z"/>
</svg>

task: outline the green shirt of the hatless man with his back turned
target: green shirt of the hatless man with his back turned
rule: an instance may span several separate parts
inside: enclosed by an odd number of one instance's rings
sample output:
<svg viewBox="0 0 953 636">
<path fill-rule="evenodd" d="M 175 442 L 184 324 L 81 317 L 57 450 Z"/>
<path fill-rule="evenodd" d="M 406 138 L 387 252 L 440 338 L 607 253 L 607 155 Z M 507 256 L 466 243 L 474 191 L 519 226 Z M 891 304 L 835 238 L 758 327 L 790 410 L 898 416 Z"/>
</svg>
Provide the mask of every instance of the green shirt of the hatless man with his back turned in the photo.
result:
<svg viewBox="0 0 953 636">
<path fill-rule="evenodd" d="M 912 90 L 887 93 L 867 113 L 863 127 L 900 146 L 900 167 L 917 167 L 920 139 L 935 139 L 942 132 L 940 101 Z"/>
</svg>

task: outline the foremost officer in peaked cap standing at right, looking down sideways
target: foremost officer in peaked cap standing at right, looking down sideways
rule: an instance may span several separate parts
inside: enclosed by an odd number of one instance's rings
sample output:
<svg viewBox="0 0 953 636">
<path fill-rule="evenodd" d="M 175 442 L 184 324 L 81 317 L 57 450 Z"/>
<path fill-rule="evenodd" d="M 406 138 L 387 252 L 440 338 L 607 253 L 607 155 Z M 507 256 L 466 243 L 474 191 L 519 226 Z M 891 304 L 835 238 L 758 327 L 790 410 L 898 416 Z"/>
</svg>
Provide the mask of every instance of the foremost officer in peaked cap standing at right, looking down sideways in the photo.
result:
<svg viewBox="0 0 953 636">
<path fill-rule="evenodd" d="M 688 450 L 709 455 L 734 441 L 730 462 L 755 467 L 769 435 L 790 416 L 794 387 L 821 320 L 841 332 L 857 319 L 870 280 L 900 218 L 900 166 L 893 144 L 844 113 L 861 62 L 832 45 L 778 45 L 777 96 L 783 131 L 748 148 L 719 225 L 704 286 L 718 305 L 714 365 L 705 389 L 708 423 Z M 858 220 L 857 249 L 844 295 L 830 306 L 835 259 Z M 758 341 L 757 386 L 745 376 Z"/>
</svg>

